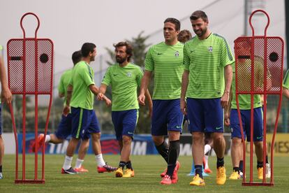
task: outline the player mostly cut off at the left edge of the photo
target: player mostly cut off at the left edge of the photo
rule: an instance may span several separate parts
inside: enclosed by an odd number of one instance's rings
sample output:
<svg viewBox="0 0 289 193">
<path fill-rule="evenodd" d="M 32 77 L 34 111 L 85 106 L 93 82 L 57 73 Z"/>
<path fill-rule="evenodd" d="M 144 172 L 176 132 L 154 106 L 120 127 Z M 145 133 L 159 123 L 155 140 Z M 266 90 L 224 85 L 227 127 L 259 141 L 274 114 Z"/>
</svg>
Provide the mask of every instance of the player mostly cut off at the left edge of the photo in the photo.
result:
<svg viewBox="0 0 289 193">
<path fill-rule="evenodd" d="M 1 101 L 0 101 L 0 179 L 3 178 L 2 174 L 2 160 L 4 157 L 4 141 L 2 138 L 2 128 L 1 128 L 1 102 L 10 104 L 12 101 L 12 94 L 8 88 L 6 70 L 4 62 L 0 56 L 0 81 L 1 81 Z"/>
</svg>

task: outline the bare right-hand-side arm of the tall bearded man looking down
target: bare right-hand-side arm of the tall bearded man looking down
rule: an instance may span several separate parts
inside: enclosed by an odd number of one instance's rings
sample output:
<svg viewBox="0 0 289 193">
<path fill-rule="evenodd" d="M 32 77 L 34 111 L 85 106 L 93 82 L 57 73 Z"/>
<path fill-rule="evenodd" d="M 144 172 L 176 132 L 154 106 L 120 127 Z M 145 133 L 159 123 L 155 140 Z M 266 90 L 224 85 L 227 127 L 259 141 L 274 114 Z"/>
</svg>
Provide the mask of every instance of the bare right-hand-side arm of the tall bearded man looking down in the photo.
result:
<svg viewBox="0 0 289 193">
<path fill-rule="evenodd" d="M 232 85 L 232 66 L 229 64 L 224 68 L 224 76 L 225 76 L 225 91 L 223 96 L 221 97 L 221 106 L 225 108 L 228 106 L 230 99 L 230 88 Z"/>
</svg>

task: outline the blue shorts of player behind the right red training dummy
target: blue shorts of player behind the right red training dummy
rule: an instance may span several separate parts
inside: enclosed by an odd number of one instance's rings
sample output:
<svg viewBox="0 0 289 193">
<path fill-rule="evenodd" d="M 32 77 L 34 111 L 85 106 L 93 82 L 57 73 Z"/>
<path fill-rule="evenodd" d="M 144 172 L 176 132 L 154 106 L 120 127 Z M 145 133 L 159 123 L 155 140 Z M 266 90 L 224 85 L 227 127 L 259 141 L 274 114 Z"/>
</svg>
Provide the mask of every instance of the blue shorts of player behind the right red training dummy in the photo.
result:
<svg viewBox="0 0 289 193">
<path fill-rule="evenodd" d="M 244 139 L 251 141 L 251 110 L 241 110 Z M 263 113 L 262 108 L 254 108 L 253 141 L 263 141 Z M 231 138 L 242 138 L 237 109 L 231 110 L 230 115 Z"/>
</svg>

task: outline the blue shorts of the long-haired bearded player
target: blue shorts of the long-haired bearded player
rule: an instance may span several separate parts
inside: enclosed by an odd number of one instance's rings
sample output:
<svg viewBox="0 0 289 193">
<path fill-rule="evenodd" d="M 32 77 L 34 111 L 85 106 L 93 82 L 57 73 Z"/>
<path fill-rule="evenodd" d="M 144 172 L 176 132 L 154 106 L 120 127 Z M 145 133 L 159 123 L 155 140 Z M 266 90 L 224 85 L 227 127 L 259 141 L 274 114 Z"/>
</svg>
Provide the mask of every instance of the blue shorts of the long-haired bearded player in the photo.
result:
<svg viewBox="0 0 289 193">
<path fill-rule="evenodd" d="M 133 138 L 133 132 L 138 123 L 138 110 L 112 111 L 112 123 L 118 141 L 122 139 L 122 136 Z"/>
</svg>

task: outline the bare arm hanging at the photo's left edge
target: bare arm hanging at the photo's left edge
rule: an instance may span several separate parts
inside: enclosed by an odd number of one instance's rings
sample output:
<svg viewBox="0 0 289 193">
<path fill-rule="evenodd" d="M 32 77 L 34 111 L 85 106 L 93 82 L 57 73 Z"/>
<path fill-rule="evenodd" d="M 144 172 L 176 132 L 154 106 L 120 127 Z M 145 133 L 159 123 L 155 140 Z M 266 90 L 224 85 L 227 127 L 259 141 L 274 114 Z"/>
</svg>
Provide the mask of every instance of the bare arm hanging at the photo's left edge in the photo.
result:
<svg viewBox="0 0 289 193">
<path fill-rule="evenodd" d="M 1 57 L 0 57 L 0 81 L 1 81 L 1 101 L 3 103 L 9 104 L 12 101 L 12 94 L 8 88 L 6 70 L 4 62 Z"/>
</svg>

